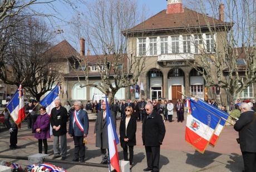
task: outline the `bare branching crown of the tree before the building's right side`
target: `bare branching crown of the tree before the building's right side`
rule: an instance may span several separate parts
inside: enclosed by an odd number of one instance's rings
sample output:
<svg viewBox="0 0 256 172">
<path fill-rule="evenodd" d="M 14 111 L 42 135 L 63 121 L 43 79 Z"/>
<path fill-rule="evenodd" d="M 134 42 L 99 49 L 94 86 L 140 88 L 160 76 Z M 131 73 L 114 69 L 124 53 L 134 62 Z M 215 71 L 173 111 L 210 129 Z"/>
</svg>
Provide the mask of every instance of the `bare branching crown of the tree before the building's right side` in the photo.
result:
<svg viewBox="0 0 256 172">
<path fill-rule="evenodd" d="M 198 0 L 190 6 L 203 15 L 191 15 L 195 26 L 188 32 L 195 60 L 189 63 L 203 75 L 206 87 L 223 88 L 228 102 L 234 101 L 256 82 L 256 2 Z M 198 23 L 202 17 L 204 26 Z"/>
</svg>

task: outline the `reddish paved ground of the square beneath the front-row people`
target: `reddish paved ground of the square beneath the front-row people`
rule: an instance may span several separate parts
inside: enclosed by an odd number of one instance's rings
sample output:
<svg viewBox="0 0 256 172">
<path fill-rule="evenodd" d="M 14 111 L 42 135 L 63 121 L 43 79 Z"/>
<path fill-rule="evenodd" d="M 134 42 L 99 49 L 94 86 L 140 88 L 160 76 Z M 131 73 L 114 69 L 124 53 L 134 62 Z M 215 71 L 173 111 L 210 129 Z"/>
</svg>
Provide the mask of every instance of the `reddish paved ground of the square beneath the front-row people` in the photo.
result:
<svg viewBox="0 0 256 172">
<path fill-rule="evenodd" d="M 142 169 L 146 168 L 145 150 L 141 141 L 141 124 L 142 123 L 139 122 L 137 123 L 137 146 L 134 148 L 134 167 L 132 171 L 142 171 Z M 166 122 L 165 127 L 166 135 L 160 153 L 160 171 L 215 172 L 243 170 L 243 159 L 240 148 L 235 141 L 235 138 L 238 137 L 238 133 L 234 131 L 233 127 L 225 127 L 217 145 L 214 148 L 209 146 L 204 154 L 194 151 L 194 149 L 185 142 L 185 123 L 177 123 L 175 119 L 173 123 Z M 117 128 L 119 128 L 119 121 L 117 122 Z M 86 145 L 86 162 L 100 163 L 100 149 L 95 147 L 93 129 L 94 122 L 90 122 L 88 144 Z M 119 132 L 117 131 L 117 133 Z M 67 142 L 67 160 L 71 161 L 73 153 L 72 138 L 68 136 Z M 21 149 L 10 150 L 8 131 L 2 131 L 0 133 L 0 154 L 28 156 L 38 152 L 37 140 L 33 137 L 31 130 L 26 128 L 26 123 L 22 125 L 21 130 L 18 132 L 18 145 L 21 146 Z M 50 157 L 52 158 L 53 139 L 48 139 L 48 147 L 48 153 L 50 153 Z M 120 159 L 123 159 L 120 145 L 118 145 L 118 150 Z M 27 161 L 23 160 L 19 160 L 18 163 L 28 165 Z M 94 168 L 80 165 L 61 164 L 60 166 L 66 168 L 67 171 L 107 171 L 106 168 Z"/>
</svg>

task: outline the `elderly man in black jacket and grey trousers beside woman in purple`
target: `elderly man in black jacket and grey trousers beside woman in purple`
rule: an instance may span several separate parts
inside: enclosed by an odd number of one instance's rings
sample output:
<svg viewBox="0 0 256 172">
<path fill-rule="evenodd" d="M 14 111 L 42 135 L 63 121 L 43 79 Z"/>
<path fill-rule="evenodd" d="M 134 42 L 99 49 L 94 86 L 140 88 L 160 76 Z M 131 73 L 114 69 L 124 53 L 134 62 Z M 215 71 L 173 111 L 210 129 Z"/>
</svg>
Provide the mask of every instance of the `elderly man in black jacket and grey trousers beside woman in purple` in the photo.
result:
<svg viewBox="0 0 256 172">
<path fill-rule="evenodd" d="M 52 108 L 50 120 L 53 134 L 53 158 L 58 158 L 61 155 L 61 160 L 65 160 L 67 154 L 67 109 L 61 106 L 60 99 L 56 99 L 54 103 L 55 108 Z"/>
</svg>

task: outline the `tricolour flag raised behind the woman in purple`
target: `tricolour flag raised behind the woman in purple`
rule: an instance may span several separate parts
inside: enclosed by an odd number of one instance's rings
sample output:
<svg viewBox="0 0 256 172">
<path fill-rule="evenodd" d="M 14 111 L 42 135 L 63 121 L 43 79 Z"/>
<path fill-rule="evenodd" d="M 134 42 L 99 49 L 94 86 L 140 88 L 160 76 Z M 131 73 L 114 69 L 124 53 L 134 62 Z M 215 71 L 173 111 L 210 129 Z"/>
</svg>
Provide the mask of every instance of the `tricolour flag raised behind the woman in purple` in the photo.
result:
<svg viewBox="0 0 256 172">
<path fill-rule="evenodd" d="M 56 99 L 59 99 L 58 93 L 59 93 L 59 86 L 56 85 L 56 87 L 53 88 L 53 89 L 51 90 L 51 92 L 50 92 L 49 94 L 47 94 L 46 97 L 43 98 L 43 99 L 41 100 L 41 102 L 40 102 L 41 105 L 43 105 L 44 107 L 46 107 L 46 113 L 47 113 L 48 115 L 51 115 L 51 110 L 52 110 L 52 108 L 55 107 L 54 101 L 55 101 Z"/>
</svg>

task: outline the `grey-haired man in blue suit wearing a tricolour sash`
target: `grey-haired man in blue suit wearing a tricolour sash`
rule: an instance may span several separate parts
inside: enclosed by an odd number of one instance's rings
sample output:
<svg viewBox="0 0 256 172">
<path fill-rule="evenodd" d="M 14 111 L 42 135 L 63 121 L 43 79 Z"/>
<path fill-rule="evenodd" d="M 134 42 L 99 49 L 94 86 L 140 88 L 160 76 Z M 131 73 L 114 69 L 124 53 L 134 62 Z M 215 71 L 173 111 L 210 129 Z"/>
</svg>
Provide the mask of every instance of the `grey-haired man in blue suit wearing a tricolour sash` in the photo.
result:
<svg viewBox="0 0 256 172">
<path fill-rule="evenodd" d="M 68 134 L 73 137 L 75 143 L 75 154 L 73 161 L 78 161 L 80 155 L 80 162 L 85 161 L 85 138 L 88 134 L 89 119 L 87 113 L 81 109 L 82 103 L 76 101 L 74 103 L 75 110 L 70 114 L 70 125 Z"/>
</svg>

